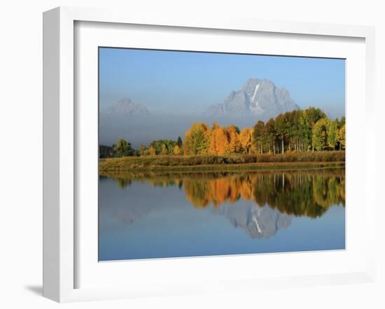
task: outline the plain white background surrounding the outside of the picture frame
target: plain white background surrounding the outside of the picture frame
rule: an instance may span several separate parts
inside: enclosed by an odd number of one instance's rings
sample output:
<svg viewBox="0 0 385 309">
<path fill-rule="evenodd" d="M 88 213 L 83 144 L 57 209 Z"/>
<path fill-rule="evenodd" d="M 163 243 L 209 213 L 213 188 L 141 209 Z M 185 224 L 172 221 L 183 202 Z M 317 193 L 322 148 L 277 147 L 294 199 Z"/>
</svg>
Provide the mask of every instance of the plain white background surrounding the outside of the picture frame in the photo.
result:
<svg viewBox="0 0 385 309">
<path fill-rule="evenodd" d="M 376 27 L 377 135 L 383 136 L 385 85 L 384 1 L 337 0 L 13 0 L 0 4 L 0 307 L 57 308 L 41 297 L 42 250 L 42 12 L 55 6 L 172 10 L 175 14 L 255 17 Z M 377 143 L 377 153 L 384 146 Z M 384 163 L 377 155 L 377 192 Z M 378 194 L 379 197 L 381 197 Z M 377 203 L 385 206 L 383 201 Z M 385 308 L 384 208 L 377 224 L 378 279 L 375 284 L 264 290 L 250 293 L 179 296 L 94 303 L 66 308 Z M 327 308 L 327 307 L 326 307 Z"/>
</svg>

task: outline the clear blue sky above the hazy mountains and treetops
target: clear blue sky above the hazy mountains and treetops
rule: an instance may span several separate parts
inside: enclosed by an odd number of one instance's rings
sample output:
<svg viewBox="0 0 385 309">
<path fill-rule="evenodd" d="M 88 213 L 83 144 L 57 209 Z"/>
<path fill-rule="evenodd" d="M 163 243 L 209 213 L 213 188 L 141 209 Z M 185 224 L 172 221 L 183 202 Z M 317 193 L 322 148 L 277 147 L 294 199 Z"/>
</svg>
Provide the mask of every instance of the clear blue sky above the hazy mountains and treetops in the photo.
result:
<svg viewBox="0 0 385 309">
<path fill-rule="evenodd" d="M 151 113 L 200 115 L 241 89 L 248 78 L 267 78 L 285 87 L 301 108 L 344 115 L 343 59 L 99 49 L 102 109 L 130 97 Z"/>
</svg>

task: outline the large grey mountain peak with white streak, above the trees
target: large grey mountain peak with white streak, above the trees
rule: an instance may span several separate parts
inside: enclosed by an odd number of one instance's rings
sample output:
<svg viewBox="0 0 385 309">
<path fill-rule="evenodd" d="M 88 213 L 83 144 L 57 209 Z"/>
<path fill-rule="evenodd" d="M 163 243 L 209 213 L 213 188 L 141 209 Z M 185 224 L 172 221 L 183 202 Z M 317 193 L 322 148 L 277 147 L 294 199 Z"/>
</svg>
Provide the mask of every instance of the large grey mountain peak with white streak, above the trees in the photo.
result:
<svg viewBox="0 0 385 309">
<path fill-rule="evenodd" d="M 223 103 L 210 106 L 204 115 L 257 115 L 275 117 L 280 113 L 300 109 L 288 90 L 279 88 L 267 79 L 251 78 L 244 87 L 232 91 Z"/>
</svg>

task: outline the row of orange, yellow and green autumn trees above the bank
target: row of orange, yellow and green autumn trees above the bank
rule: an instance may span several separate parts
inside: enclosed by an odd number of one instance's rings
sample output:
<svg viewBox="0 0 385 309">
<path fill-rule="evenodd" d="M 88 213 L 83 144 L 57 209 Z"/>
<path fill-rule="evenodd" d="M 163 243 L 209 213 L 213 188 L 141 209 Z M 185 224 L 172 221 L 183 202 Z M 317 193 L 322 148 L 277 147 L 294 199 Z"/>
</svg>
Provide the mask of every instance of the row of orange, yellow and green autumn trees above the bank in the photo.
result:
<svg viewBox="0 0 385 309">
<path fill-rule="evenodd" d="M 185 138 L 151 142 L 134 150 L 131 144 L 120 139 L 116 145 L 99 146 L 99 157 L 127 157 L 154 155 L 225 155 L 265 154 L 285 152 L 344 150 L 345 117 L 330 120 L 319 109 L 293 110 L 281 113 L 267 122 L 258 121 L 253 127 L 239 129 L 230 124 L 212 127 L 204 122 L 194 123 Z"/>
</svg>

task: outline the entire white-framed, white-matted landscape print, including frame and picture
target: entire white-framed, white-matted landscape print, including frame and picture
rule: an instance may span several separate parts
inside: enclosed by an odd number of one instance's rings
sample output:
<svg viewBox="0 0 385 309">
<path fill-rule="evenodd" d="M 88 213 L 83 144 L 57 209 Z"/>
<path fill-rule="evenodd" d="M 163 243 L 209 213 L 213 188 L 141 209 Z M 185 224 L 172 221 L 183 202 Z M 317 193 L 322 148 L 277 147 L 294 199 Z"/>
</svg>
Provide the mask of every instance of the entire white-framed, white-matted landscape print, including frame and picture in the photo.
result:
<svg viewBox="0 0 385 309">
<path fill-rule="evenodd" d="M 373 280 L 372 28 L 56 8 L 43 29 L 46 297 Z"/>
</svg>

